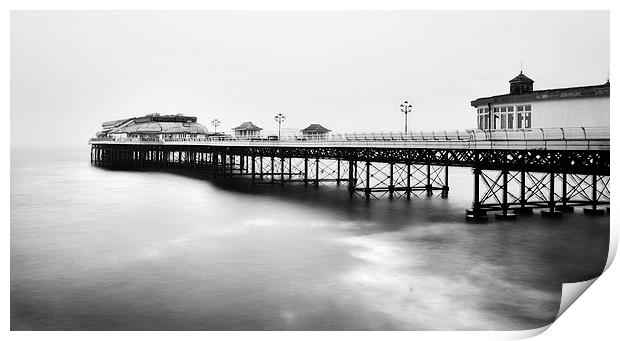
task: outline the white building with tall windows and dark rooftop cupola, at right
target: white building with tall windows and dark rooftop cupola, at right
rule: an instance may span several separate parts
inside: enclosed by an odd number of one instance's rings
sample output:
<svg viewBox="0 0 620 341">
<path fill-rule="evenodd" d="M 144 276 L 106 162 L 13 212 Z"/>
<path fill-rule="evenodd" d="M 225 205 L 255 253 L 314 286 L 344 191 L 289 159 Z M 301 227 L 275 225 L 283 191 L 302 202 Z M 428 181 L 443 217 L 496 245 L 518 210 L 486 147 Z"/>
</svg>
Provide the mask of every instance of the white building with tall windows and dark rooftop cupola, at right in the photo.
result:
<svg viewBox="0 0 620 341">
<path fill-rule="evenodd" d="M 478 129 L 609 126 L 609 81 L 534 90 L 534 81 L 520 73 L 509 83 L 510 93 L 471 102 Z"/>
</svg>

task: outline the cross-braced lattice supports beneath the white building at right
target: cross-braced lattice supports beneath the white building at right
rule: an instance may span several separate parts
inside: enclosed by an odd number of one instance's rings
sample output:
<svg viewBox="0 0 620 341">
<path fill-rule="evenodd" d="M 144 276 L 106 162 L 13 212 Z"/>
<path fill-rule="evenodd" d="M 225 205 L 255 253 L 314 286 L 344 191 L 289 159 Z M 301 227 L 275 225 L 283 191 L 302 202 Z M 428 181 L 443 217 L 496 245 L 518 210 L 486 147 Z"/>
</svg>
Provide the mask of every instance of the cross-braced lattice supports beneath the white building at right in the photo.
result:
<svg viewBox="0 0 620 341">
<path fill-rule="evenodd" d="M 596 186 L 592 175 L 513 171 L 506 172 L 506 177 L 505 181 L 502 171 L 480 173 L 481 208 L 585 206 L 594 201 L 609 204 L 609 176 L 596 176 Z"/>
</svg>

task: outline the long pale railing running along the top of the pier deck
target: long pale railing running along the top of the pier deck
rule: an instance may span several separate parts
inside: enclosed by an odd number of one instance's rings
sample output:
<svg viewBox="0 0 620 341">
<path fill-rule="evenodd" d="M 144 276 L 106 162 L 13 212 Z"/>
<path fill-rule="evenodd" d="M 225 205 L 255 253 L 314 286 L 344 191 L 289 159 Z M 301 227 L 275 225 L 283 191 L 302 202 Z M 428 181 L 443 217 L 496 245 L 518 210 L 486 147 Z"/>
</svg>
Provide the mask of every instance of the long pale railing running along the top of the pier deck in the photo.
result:
<svg viewBox="0 0 620 341">
<path fill-rule="evenodd" d="M 283 136 L 236 139 L 230 136 L 145 140 L 92 139 L 97 143 L 192 144 L 230 146 L 307 146 L 453 149 L 609 150 L 609 127 L 568 127 L 512 130 L 454 130 L 430 132 L 345 133 L 324 136 Z"/>
</svg>

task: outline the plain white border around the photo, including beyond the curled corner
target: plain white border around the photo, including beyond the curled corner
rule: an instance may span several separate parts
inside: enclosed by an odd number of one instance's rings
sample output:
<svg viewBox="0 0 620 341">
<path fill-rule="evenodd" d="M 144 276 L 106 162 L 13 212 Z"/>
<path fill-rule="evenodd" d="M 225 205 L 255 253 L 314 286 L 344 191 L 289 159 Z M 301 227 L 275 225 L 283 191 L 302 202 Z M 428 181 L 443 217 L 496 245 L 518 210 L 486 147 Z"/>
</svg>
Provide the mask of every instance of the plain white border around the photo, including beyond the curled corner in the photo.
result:
<svg viewBox="0 0 620 341">
<path fill-rule="evenodd" d="M 2 19 L 2 39 L 3 45 L 7 47 L 3 54 L 2 79 L 3 90 L 2 91 L 2 104 L 4 107 L 4 115 L 7 120 L 10 119 L 10 104 L 9 104 L 9 91 L 10 91 L 10 23 L 9 23 L 9 10 L 390 10 L 390 9 L 532 9 L 532 10 L 560 10 L 560 9 L 599 9 L 607 10 L 612 9 L 611 12 L 611 55 L 610 60 L 618 60 L 617 44 L 614 43 L 613 38 L 617 38 L 617 1 L 603 1 L 603 0 L 589 0 L 576 1 L 542 1 L 542 0 L 520 0 L 518 2 L 511 2 L 505 4 L 500 1 L 489 0 L 469 0 L 469 1 L 426 1 L 412 4 L 410 1 L 404 0 L 383 0 L 383 1 L 339 1 L 339 0 L 314 0 L 314 1 L 285 1 L 285 0 L 263 0 L 263 1 L 251 1 L 251 0 L 238 0 L 238 1 L 193 1 L 193 0 L 176 0 L 176 1 L 131 1 L 131 0 L 108 0 L 108 1 L 78 1 L 78 0 L 57 0 L 57 1 L 9 1 L 3 3 L 5 11 L 3 12 Z M 615 69 L 611 69 L 611 78 L 616 75 Z M 615 101 L 612 98 L 611 112 L 616 113 Z M 618 126 L 618 119 L 614 114 L 611 115 L 611 127 L 612 136 L 615 135 Z M 6 132 L 2 134 L 2 149 L 5 156 L 10 155 L 10 135 Z M 614 138 L 612 138 L 614 140 Z M 612 147 L 613 149 L 613 147 Z M 618 157 L 612 153 L 612 165 L 617 164 Z M 2 321 L 4 322 L 4 330 L 8 334 L 6 336 L 14 339 L 34 339 L 45 337 L 51 339 L 62 340 L 82 340 L 84 338 L 92 340 L 107 340 L 110 337 L 121 339 L 135 339 L 148 337 L 149 339 L 169 339 L 171 337 L 182 337 L 187 339 L 204 339 L 205 337 L 216 337 L 221 339 L 230 338 L 252 338 L 252 339 L 269 339 L 269 340 L 289 340 L 295 339 L 315 339 L 315 338 L 342 338 L 352 337 L 356 339 L 366 338 L 393 338 L 411 340 L 412 337 L 428 339 L 428 340 L 445 340 L 445 339 L 458 339 L 458 340 L 496 340 L 496 339 L 514 339 L 520 337 L 533 336 L 541 332 L 546 328 L 541 328 L 537 331 L 525 331 L 525 332 L 98 332 L 98 333 L 82 333 L 82 332 L 57 332 L 57 333 L 45 333 L 41 332 L 8 332 L 9 330 L 9 259 L 10 259 L 10 230 L 8 228 L 10 223 L 9 215 L 9 200 L 10 195 L 10 168 L 9 162 L 5 161 L 2 167 L 2 175 L 4 181 L 2 182 L 2 197 L 5 200 L 5 204 L 2 207 L 2 226 L 3 232 L 3 245 L 5 250 L 5 257 L 2 262 L 2 270 L 6 274 L 5 280 L 2 282 L 2 289 L 4 295 L 2 296 Z M 615 178 L 615 168 L 612 167 L 612 174 Z M 611 182 L 611 192 L 616 192 L 617 186 L 615 182 Z M 611 213 L 611 230 L 612 238 L 610 245 L 610 254 L 615 255 L 618 242 L 618 226 L 616 223 L 615 211 Z M 609 261 L 613 258 L 610 257 Z M 608 262 L 607 267 L 609 267 Z M 542 335 L 539 339 L 546 340 L 571 340 L 571 339 L 596 339 L 605 337 L 609 339 L 612 335 L 617 335 L 617 312 L 618 312 L 618 287 L 620 284 L 620 274 L 616 269 L 618 266 L 611 266 L 610 270 L 606 271 L 599 280 L 592 284 L 592 288 L 587 290 L 584 295 L 577 300 L 574 307 L 571 307 L 562 317 L 555 323 L 553 323 L 549 330 Z"/>
</svg>

